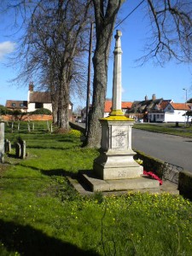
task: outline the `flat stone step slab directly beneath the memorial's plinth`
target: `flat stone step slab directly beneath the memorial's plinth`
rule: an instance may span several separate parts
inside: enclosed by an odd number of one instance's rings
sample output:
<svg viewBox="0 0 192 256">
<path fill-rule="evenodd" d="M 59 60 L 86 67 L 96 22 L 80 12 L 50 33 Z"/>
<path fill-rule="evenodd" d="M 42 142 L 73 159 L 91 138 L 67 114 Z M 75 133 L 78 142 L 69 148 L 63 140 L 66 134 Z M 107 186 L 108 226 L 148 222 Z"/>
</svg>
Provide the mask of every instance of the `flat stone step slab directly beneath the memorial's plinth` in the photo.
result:
<svg viewBox="0 0 192 256">
<path fill-rule="evenodd" d="M 117 179 L 117 180 L 102 180 L 96 177 L 94 172 L 81 172 L 81 179 L 90 187 L 92 192 L 96 191 L 121 191 L 146 190 L 151 192 L 160 191 L 160 183 L 157 180 L 151 179 L 148 176 L 142 175 L 137 178 Z"/>
</svg>

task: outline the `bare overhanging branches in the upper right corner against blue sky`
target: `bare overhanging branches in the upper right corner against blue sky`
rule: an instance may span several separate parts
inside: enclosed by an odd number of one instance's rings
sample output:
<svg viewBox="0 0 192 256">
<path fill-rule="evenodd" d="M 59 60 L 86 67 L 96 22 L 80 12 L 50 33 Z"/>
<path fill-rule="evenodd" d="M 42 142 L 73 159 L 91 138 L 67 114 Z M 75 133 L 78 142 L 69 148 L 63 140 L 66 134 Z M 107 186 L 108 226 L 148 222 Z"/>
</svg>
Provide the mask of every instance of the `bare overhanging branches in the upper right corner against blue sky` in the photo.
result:
<svg viewBox="0 0 192 256">
<path fill-rule="evenodd" d="M 147 54 L 160 64 L 172 57 L 178 62 L 192 61 L 192 2 L 188 0 L 147 0 L 151 34 Z"/>
</svg>

